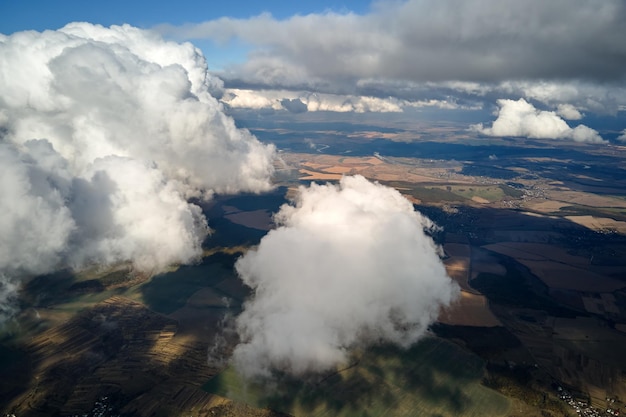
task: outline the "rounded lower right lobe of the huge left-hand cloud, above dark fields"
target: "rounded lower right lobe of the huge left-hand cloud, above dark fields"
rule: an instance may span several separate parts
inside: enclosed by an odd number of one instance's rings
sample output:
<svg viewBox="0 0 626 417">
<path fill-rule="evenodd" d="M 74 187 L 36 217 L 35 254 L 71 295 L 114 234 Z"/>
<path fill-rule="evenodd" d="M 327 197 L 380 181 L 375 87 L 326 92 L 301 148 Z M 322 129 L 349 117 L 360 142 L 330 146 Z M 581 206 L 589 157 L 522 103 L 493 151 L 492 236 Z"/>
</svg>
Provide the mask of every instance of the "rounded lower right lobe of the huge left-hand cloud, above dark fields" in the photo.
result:
<svg viewBox="0 0 626 417">
<path fill-rule="evenodd" d="M 98 159 L 85 177 L 71 190 L 74 237 L 81 243 L 68 254 L 71 265 L 132 260 L 153 272 L 198 257 L 206 219 L 183 198 L 177 181 L 153 165 L 117 156 Z"/>
</svg>

